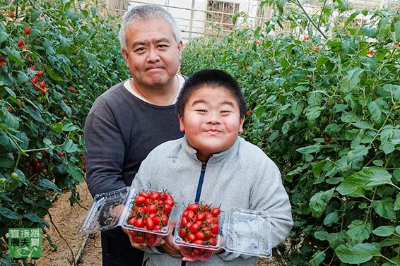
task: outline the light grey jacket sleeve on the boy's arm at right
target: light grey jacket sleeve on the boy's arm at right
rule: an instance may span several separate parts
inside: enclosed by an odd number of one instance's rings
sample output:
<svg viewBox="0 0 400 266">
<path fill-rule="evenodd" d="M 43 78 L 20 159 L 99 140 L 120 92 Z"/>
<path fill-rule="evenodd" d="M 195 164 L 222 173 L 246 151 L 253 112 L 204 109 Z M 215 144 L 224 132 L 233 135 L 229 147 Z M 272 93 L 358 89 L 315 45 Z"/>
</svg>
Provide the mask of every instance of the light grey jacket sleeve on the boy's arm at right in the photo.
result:
<svg viewBox="0 0 400 266">
<path fill-rule="evenodd" d="M 278 167 L 264 152 L 259 158 L 263 159 L 258 167 L 254 167 L 254 183 L 249 198 L 250 208 L 264 210 L 271 215 L 271 246 L 273 248 L 288 237 L 293 227 L 292 212 Z"/>
</svg>

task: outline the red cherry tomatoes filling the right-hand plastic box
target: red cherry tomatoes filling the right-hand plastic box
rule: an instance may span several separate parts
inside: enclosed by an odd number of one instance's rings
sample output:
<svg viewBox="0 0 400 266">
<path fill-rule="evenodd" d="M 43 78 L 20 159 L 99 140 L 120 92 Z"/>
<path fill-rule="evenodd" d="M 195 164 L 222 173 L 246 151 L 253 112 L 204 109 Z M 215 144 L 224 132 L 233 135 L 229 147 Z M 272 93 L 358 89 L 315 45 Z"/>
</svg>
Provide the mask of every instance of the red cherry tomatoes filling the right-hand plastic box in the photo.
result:
<svg viewBox="0 0 400 266">
<path fill-rule="evenodd" d="M 215 248 L 220 231 L 219 214 L 219 207 L 211 207 L 211 205 L 202 203 L 189 204 L 182 213 L 179 236 L 186 243 Z M 212 248 L 194 248 L 192 246 L 182 248 L 182 254 L 185 257 L 196 260 L 208 260 L 212 253 Z"/>
</svg>

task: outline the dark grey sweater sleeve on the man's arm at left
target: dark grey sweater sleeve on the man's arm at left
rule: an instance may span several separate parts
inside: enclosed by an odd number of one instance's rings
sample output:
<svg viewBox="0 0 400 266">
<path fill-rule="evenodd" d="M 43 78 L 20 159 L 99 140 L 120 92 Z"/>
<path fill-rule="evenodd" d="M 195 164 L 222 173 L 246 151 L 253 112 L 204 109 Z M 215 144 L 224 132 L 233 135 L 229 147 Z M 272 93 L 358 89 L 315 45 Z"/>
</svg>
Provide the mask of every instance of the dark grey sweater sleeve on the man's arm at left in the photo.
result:
<svg viewBox="0 0 400 266">
<path fill-rule="evenodd" d="M 90 193 L 94 196 L 123 188 L 125 183 L 121 173 L 125 145 L 112 112 L 105 104 L 97 104 L 96 110 L 90 111 L 85 123 L 84 136 L 86 182 Z"/>
</svg>

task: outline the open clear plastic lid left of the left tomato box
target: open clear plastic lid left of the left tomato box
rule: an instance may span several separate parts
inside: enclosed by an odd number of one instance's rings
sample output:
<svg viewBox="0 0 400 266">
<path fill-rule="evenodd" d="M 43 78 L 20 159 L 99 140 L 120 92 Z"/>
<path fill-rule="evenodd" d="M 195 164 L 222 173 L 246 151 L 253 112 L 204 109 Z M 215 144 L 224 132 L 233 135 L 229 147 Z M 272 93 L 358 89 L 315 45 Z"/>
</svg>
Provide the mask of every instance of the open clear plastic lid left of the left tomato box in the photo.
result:
<svg viewBox="0 0 400 266">
<path fill-rule="evenodd" d="M 128 191 L 129 187 L 125 187 L 117 191 L 95 195 L 90 210 L 78 232 L 90 234 L 116 227 L 124 210 L 124 200 L 127 198 Z"/>
</svg>

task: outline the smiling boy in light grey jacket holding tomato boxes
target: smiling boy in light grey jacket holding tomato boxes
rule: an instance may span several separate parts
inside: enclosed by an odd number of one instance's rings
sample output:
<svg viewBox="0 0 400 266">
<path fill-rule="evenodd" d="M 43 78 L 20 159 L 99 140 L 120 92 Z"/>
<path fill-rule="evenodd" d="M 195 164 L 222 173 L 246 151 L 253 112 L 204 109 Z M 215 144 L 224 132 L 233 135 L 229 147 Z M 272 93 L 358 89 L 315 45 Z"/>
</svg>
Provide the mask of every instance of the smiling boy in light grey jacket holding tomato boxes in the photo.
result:
<svg viewBox="0 0 400 266">
<path fill-rule="evenodd" d="M 141 164 L 132 187 L 172 193 L 178 213 L 192 202 L 264 210 L 271 214 L 272 246 L 293 226 L 281 174 L 259 147 L 238 136 L 246 102 L 228 73 L 205 70 L 188 78 L 177 100 L 183 138 L 155 147 Z M 165 241 L 170 243 L 169 236 Z M 176 248 L 179 248 L 176 246 Z M 146 248 L 147 266 L 185 264 L 180 258 Z M 192 261 L 188 258 L 183 260 Z M 190 265 L 256 265 L 257 258 L 220 250 L 209 260 Z"/>
</svg>

